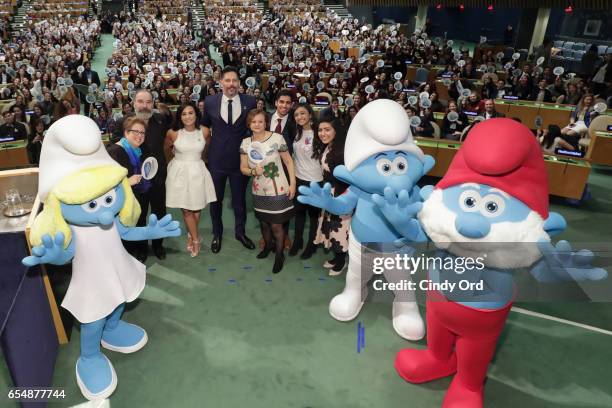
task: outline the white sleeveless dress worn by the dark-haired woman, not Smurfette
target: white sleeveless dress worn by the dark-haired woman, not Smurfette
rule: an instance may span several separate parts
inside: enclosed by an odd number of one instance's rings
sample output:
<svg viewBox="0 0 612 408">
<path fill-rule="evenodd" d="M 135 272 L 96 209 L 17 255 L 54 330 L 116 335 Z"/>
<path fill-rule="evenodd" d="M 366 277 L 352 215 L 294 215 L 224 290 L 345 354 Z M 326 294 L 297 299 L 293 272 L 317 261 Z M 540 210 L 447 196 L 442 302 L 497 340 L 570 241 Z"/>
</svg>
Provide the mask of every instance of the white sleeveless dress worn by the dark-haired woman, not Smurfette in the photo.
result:
<svg viewBox="0 0 612 408">
<path fill-rule="evenodd" d="M 197 211 L 217 201 L 212 177 L 202 160 L 204 147 L 201 129 L 179 129 L 174 158 L 168 163 L 166 207 Z"/>
</svg>

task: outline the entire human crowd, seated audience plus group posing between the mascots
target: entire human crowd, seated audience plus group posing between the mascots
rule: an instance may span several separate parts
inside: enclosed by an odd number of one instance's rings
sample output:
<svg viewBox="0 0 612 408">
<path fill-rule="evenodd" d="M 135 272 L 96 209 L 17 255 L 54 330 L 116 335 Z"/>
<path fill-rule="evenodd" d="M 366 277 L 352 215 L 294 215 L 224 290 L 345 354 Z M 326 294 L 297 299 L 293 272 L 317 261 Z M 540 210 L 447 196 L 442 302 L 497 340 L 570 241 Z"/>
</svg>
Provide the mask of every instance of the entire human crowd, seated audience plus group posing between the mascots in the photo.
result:
<svg viewBox="0 0 612 408">
<path fill-rule="evenodd" d="M 255 248 L 245 234 L 251 177 L 263 237 L 258 257 L 274 252 L 273 270 L 279 272 L 286 247 L 289 255 L 301 251 L 308 259 L 323 245 L 334 254 L 326 266 L 337 274 L 346 262 L 350 217 L 300 204 L 296 189 L 330 182 L 334 194 L 343 192 L 346 186 L 334 179 L 333 169 L 343 162 L 346 129 L 368 102 L 395 100 L 410 117 L 414 135 L 434 137 L 439 127 L 439 136 L 452 140 L 462 140 L 475 122 L 501 116 L 495 110 L 498 98 L 576 105 L 568 126 L 538 130 L 550 153 L 558 146 L 579 149 L 578 139 L 599 114 L 596 101 L 611 95 L 612 55 L 587 61 L 590 69 L 576 75 L 550 65 L 542 48 L 530 61 L 483 44 L 470 56 L 452 41 L 430 38 L 427 30 L 372 27 L 319 10 L 318 2 L 270 6 L 271 13 L 262 15 L 250 1 L 207 2 L 198 38 L 184 23 L 186 2 L 154 1 L 136 13 L 124 11 L 108 21 L 115 49 L 104 82 L 88 62 L 98 43 L 98 20 L 56 16 L 36 22 L 3 44 L 0 95 L 14 99 L 3 126 L 25 131 L 31 145 L 40 145 L 54 119 L 84 105 L 83 112 L 112 135 L 114 154 L 131 172 L 144 213 L 148 207 L 158 216 L 167 207 L 182 210 L 192 256 L 200 251 L 198 225 L 209 204 L 211 249 L 221 249 L 227 181 L 235 237 Z M 212 57 L 217 53 L 221 61 Z M 410 65 L 420 68 L 416 75 Z M 440 126 L 434 113 L 444 114 Z M 211 131 L 229 139 L 221 144 Z M 168 153 L 174 158 L 166 164 Z M 150 182 L 139 177 L 139 165 L 149 156 L 160 167 Z M 291 239 L 290 220 L 295 220 Z M 153 249 L 165 256 L 161 240 Z M 146 258 L 146 246 L 131 250 Z"/>
</svg>

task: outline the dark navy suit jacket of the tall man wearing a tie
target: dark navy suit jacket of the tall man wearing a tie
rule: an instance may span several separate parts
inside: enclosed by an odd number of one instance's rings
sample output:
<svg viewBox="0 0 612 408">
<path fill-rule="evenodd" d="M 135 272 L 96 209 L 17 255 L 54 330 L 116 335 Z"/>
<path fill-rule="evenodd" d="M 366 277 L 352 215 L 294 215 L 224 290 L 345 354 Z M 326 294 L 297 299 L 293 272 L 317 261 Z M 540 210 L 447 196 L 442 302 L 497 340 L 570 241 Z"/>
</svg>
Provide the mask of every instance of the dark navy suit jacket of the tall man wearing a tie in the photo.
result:
<svg viewBox="0 0 612 408">
<path fill-rule="evenodd" d="M 240 174 L 240 144 L 247 136 L 246 117 L 255 109 L 254 97 L 239 94 L 240 117 L 231 126 L 221 118 L 222 93 L 207 96 L 204 100 L 203 125 L 211 130 L 208 165 L 211 171 Z"/>
</svg>

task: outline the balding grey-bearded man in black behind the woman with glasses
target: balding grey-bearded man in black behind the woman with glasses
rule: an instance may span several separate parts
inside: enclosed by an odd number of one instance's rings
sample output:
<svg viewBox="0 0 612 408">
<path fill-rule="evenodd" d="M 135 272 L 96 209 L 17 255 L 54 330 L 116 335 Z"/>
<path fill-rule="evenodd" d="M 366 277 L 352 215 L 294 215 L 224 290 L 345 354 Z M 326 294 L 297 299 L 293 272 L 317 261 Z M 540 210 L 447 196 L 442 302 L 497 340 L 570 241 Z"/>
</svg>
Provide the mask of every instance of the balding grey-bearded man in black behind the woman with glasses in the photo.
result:
<svg viewBox="0 0 612 408">
<path fill-rule="evenodd" d="M 147 148 L 155 157 L 158 164 L 158 170 L 152 180 L 152 186 L 148 193 L 149 202 L 142 206 L 142 212 L 147 213 L 148 207 L 151 206 L 151 214 L 157 215 L 161 219 L 166 215 L 166 156 L 164 154 L 164 140 L 166 132 L 170 128 L 169 120 L 166 116 L 160 113 L 153 113 L 153 96 L 147 89 L 139 89 L 134 94 L 134 112 L 135 115 L 147 122 L 147 133 L 145 141 Z M 113 133 L 113 141 L 118 141 L 123 137 L 123 119 L 115 126 Z M 166 258 L 166 250 L 163 247 L 163 240 L 154 239 L 152 241 L 153 253 L 159 259 Z M 148 251 L 148 247 L 145 246 Z M 137 254 L 138 259 L 146 259 L 147 254 Z"/>
</svg>

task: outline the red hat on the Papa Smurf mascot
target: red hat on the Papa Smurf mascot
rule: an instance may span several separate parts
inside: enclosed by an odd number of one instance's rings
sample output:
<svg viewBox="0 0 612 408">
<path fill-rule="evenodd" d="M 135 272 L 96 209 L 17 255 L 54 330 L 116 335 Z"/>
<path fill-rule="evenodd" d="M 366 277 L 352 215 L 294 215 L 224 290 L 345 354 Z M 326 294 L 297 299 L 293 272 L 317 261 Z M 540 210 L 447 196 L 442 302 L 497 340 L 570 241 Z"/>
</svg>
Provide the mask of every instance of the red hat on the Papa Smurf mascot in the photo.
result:
<svg viewBox="0 0 612 408">
<path fill-rule="evenodd" d="M 436 188 L 486 184 L 522 201 L 548 218 L 548 173 L 531 130 L 512 119 L 475 125 Z"/>
</svg>

